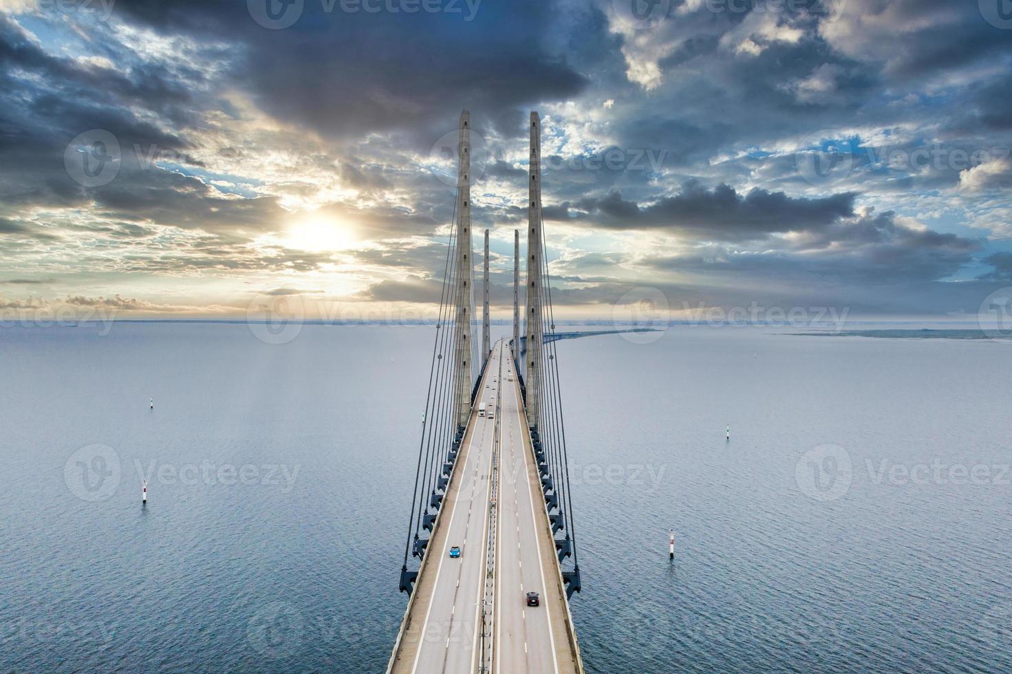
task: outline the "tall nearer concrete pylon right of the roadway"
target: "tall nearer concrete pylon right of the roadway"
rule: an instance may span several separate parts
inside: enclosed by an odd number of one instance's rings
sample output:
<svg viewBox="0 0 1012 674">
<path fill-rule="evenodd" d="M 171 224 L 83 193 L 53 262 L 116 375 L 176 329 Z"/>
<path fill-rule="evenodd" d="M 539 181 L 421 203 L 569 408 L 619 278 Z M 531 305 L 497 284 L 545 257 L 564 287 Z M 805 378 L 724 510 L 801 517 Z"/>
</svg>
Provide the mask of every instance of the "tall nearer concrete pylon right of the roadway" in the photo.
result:
<svg viewBox="0 0 1012 674">
<path fill-rule="evenodd" d="M 541 391 L 541 119 L 530 113 L 530 179 L 527 181 L 527 355 L 524 358 L 527 425 L 538 422 Z"/>
</svg>

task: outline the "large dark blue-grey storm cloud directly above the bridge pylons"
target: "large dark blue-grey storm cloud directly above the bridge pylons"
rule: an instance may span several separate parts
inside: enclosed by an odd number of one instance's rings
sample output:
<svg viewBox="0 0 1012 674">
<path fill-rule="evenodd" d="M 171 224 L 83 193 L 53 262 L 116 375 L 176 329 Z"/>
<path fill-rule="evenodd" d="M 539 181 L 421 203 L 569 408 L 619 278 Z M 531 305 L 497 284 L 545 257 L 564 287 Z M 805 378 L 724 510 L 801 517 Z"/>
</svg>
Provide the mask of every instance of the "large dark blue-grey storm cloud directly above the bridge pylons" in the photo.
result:
<svg viewBox="0 0 1012 674">
<path fill-rule="evenodd" d="M 588 85 L 564 52 L 547 47 L 558 11 L 550 3 L 480 3 L 470 20 L 460 6 L 461 13 L 351 13 L 340 2 L 309 1 L 292 26 L 267 30 L 245 2 L 116 3 L 167 34 L 241 44 L 235 74 L 260 105 L 328 136 L 400 129 L 431 145 L 463 107 L 515 135 L 520 108 Z M 603 24 L 596 29 L 604 33 Z"/>
</svg>

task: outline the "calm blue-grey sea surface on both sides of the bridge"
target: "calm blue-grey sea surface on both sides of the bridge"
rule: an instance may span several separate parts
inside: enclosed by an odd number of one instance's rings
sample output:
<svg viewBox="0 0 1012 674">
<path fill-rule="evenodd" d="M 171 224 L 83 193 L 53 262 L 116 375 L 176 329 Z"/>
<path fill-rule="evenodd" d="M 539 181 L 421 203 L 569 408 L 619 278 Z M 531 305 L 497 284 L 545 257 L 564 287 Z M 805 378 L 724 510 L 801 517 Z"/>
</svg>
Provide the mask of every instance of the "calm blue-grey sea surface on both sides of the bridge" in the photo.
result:
<svg viewBox="0 0 1012 674">
<path fill-rule="evenodd" d="M 383 671 L 433 332 L 0 328 L 0 671 Z M 588 671 L 1012 671 L 1012 345 L 771 332 L 559 343 Z"/>
</svg>

